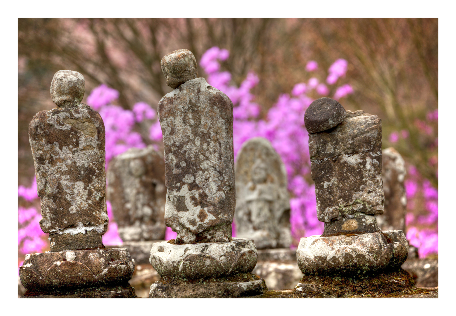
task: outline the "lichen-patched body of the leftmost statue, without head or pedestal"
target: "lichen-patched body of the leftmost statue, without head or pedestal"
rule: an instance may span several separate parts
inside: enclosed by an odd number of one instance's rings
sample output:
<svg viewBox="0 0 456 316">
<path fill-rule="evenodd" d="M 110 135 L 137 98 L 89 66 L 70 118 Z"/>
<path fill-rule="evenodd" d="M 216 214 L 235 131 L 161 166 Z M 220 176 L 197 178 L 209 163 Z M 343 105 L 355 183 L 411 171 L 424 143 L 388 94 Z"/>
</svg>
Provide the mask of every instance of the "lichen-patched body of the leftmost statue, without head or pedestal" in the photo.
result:
<svg viewBox="0 0 456 316">
<path fill-rule="evenodd" d="M 29 140 L 40 226 L 49 233 L 51 251 L 103 247 L 108 215 L 101 116 L 85 104 L 41 111 L 30 122 Z"/>
</svg>

